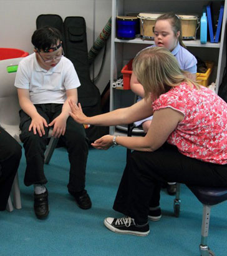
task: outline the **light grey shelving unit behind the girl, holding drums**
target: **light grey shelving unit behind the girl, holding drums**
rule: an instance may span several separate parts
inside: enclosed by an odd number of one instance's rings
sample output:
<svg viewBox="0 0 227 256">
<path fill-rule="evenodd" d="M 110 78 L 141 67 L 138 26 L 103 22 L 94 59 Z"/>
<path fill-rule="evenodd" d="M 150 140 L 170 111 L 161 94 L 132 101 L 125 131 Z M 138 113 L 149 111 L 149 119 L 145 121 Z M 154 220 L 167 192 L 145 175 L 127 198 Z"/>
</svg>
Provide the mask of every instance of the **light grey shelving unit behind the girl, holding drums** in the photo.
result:
<svg viewBox="0 0 227 256">
<path fill-rule="evenodd" d="M 136 38 L 133 40 L 120 40 L 116 37 L 116 17 L 125 16 L 132 12 L 178 12 L 185 14 L 198 14 L 201 16 L 203 6 L 210 1 L 170 1 L 170 0 L 112 0 L 112 35 L 111 35 L 111 61 L 110 61 L 110 111 L 119 107 L 132 105 L 134 94 L 130 90 L 119 90 L 112 87 L 114 79 L 120 74 L 122 67 L 132 59 L 135 54 L 153 41 Z M 218 14 L 222 1 L 212 1 L 214 13 Z M 211 82 L 216 82 L 216 92 L 223 78 L 226 65 L 226 16 L 227 4 L 223 16 L 220 42 L 210 43 L 209 36 L 206 44 L 201 44 L 200 39 L 183 41 L 188 51 L 203 60 L 215 62 Z M 118 133 L 115 127 L 110 127 L 110 134 Z"/>
</svg>

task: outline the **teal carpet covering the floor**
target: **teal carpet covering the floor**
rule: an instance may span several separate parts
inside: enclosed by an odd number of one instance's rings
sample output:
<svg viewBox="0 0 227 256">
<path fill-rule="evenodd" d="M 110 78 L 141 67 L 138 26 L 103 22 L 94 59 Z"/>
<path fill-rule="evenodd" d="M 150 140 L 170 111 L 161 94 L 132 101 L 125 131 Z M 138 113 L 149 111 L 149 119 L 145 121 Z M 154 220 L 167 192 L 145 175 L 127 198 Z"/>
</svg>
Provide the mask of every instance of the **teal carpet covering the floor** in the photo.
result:
<svg viewBox="0 0 227 256">
<path fill-rule="evenodd" d="M 150 235 L 119 235 L 105 228 L 105 217 L 120 217 L 112 210 L 125 167 L 126 149 L 89 150 L 86 189 L 92 209 L 82 210 L 67 193 L 69 162 L 65 149 L 56 149 L 46 176 L 49 180 L 50 214 L 36 219 L 33 188 L 23 184 L 25 158 L 21 159 L 19 180 L 22 209 L 0 212 L 1 256 L 194 256 L 200 255 L 202 205 L 181 185 L 181 213 L 173 215 L 173 198 L 162 191 L 160 222 L 150 222 Z M 211 209 L 208 244 L 216 256 L 227 255 L 227 203 Z"/>
</svg>

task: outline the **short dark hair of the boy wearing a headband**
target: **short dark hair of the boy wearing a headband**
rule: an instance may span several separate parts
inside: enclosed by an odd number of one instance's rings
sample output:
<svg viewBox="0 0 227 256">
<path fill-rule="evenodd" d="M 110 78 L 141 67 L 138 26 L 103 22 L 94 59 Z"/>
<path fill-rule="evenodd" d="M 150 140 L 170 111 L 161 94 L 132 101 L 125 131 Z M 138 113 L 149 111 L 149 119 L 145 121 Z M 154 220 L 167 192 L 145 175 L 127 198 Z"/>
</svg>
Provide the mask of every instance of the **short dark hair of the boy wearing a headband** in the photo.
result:
<svg viewBox="0 0 227 256">
<path fill-rule="evenodd" d="M 39 51 L 49 49 L 54 45 L 57 46 L 57 41 L 62 41 L 62 35 L 60 31 L 54 27 L 41 27 L 32 35 L 32 44 Z"/>
</svg>

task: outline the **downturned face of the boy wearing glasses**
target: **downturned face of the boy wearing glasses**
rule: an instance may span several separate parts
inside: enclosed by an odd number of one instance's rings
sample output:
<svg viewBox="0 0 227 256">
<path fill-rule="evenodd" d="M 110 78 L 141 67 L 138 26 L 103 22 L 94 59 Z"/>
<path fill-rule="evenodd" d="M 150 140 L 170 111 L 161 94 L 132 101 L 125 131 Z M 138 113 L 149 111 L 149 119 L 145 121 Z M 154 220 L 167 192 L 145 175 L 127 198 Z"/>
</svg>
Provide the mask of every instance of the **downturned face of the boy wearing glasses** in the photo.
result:
<svg viewBox="0 0 227 256">
<path fill-rule="evenodd" d="M 58 42 L 57 45 L 59 45 L 60 42 Z M 55 45 L 51 47 L 56 47 Z M 54 52 L 37 52 L 36 51 L 36 56 L 37 56 L 37 61 L 39 62 L 39 65 L 46 69 L 49 70 L 51 67 L 55 67 L 59 61 L 60 58 L 63 56 L 63 49 L 62 46 L 60 46 L 57 51 Z"/>
</svg>

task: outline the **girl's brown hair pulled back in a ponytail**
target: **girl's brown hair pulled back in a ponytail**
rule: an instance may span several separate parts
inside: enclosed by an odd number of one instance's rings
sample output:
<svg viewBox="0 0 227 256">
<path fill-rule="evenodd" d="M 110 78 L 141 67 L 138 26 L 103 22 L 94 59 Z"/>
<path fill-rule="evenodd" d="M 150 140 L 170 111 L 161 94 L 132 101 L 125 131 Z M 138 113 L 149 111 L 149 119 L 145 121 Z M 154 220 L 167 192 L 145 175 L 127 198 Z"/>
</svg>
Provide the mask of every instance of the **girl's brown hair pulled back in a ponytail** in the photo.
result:
<svg viewBox="0 0 227 256">
<path fill-rule="evenodd" d="M 161 16 L 157 17 L 155 23 L 157 21 L 163 21 L 163 20 L 167 20 L 167 19 L 170 20 L 170 24 L 171 24 L 171 27 L 173 29 L 175 36 L 176 36 L 176 33 L 178 31 L 180 31 L 180 36 L 178 37 L 179 43 L 182 47 L 186 48 L 185 44 L 183 44 L 183 41 L 182 41 L 181 20 L 180 20 L 179 16 L 177 16 L 173 12 L 168 12 L 168 13 L 162 14 Z"/>
</svg>

